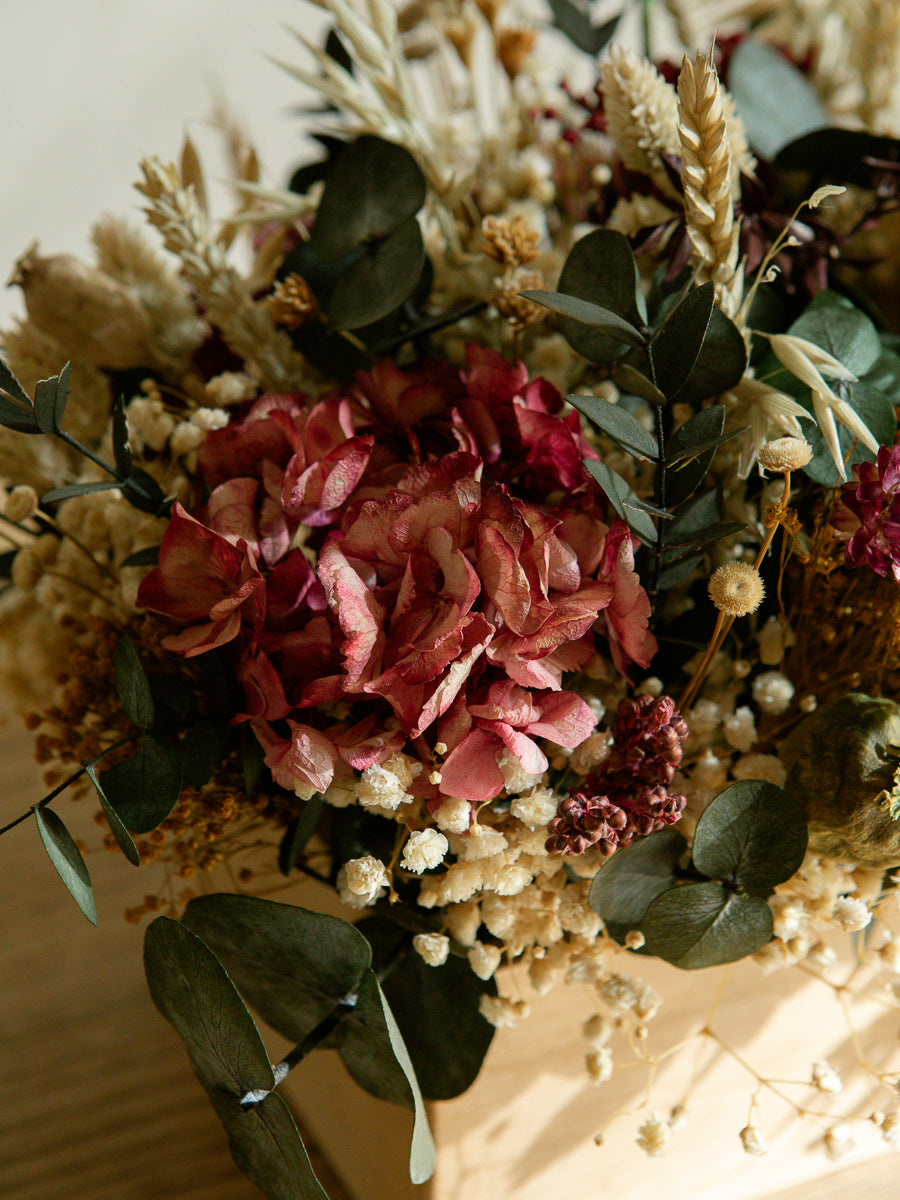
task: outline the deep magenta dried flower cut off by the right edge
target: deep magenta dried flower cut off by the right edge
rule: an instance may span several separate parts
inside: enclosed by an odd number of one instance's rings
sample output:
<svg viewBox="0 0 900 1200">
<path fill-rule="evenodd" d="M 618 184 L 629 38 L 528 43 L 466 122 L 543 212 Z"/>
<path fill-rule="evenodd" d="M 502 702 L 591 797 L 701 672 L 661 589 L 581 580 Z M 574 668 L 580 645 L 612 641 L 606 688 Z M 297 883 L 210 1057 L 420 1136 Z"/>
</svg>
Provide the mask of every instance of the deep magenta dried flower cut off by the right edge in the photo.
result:
<svg viewBox="0 0 900 1200">
<path fill-rule="evenodd" d="M 853 467 L 832 515 L 846 540 L 850 566 L 866 563 L 878 575 L 900 582 L 900 445 L 881 446 L 875 462 Z"/>
</svg>

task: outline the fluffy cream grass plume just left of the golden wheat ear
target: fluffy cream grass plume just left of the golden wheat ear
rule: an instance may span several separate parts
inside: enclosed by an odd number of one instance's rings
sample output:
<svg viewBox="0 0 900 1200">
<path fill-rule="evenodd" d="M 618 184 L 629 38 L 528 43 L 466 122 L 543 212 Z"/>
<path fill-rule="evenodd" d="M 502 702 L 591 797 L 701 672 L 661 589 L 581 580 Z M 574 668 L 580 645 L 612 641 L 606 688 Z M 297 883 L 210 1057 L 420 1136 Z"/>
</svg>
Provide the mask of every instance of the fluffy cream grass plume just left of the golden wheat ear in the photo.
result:
<svg viewBox="0 0 900 1200">
<path fill-rule="evenodd" d="M 652 62 L 613 44 L 600 64 L 606 132 L 630 170 L 649 175 L 670 196 L 674 188 L 661 155 L 678 155 L 678 100 Z"/>
</svg>

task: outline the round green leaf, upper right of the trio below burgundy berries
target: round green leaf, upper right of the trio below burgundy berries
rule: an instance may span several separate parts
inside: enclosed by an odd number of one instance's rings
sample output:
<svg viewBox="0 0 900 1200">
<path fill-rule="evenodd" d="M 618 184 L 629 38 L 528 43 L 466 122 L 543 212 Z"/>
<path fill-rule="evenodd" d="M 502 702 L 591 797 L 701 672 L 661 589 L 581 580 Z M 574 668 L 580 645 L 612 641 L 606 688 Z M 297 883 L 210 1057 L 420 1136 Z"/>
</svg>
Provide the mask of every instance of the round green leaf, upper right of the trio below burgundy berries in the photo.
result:
<svg viewBox="0 0 900 1200">
<path fill-rule="evenodd" d="M 744 779 L 720 792 L 694 833 L 694 865 L 710 880 L 728 880 L 758 896 L 790 878 L 806 853 L 799 804 L 774 784 Z"/>
</svg>

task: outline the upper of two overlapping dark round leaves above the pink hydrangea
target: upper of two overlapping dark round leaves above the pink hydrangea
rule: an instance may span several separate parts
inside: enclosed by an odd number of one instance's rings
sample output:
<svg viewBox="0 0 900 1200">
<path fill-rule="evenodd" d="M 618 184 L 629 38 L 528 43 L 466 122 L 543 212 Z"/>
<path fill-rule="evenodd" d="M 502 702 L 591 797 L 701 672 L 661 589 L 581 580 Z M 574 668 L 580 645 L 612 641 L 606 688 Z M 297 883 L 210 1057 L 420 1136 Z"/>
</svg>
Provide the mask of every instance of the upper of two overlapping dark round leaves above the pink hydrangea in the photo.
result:
<svg viewBox="0 0 900 1200">
<path fill-rule="evenodd" d="M 343 258 L 386 238 L 415 216 L 425 196 L 425 176 L 408 150 L 371 134 L 358 138 L 325 176 L 312 235 L 317 254 Z"/>
</svg>

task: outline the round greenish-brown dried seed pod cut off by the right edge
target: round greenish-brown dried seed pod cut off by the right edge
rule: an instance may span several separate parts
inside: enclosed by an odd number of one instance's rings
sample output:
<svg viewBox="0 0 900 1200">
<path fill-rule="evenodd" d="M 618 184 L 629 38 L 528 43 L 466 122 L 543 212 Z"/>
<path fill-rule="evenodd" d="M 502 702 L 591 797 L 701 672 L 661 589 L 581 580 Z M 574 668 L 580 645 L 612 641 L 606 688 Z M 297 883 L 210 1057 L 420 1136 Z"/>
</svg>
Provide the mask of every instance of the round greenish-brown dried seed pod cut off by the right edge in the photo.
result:
<svg viewBox="0 0 900 1200">
<path fill-rule="evenodd" d="M 830 858 L 900 863 L 900 704 L 860 692 L 806 716 L 780 757 L 803 806 L 810 850 Z"/>
</svg>

